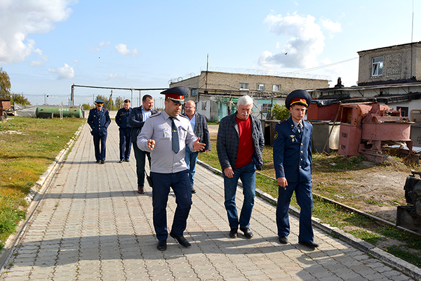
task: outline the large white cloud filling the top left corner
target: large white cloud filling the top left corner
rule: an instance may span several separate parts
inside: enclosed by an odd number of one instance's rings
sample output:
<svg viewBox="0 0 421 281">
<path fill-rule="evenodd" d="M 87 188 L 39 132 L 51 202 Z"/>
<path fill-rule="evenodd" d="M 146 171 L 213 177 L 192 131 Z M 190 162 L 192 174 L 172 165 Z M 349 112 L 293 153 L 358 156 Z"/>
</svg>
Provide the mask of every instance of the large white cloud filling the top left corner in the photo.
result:
<svg viewBox="0 0 421 281">
<path fill-rule="evenodd" d="M 0 64 L 18 63 L 35 50 L 28 34 L 54 30 L 55 22 L 67 20 L 72 13 L 69 0 L 0 0 Z"/>
</svg>

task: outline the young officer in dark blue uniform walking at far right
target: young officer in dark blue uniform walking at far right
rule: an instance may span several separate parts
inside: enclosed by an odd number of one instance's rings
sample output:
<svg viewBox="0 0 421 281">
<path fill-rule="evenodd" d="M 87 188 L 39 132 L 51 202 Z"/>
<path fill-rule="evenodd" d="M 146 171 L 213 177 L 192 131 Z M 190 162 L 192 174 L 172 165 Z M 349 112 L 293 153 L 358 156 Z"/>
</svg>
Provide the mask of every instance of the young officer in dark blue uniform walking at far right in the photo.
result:
<svg viewBox="0 0 421 281">
<path fill-rule="evenodd" d="M 288 209 L 295 191 L 300 211 L 300 234 L 298 242 L 312 249 L 314 243 L 312 227 L 312 131 L 313 126 L 305 122 L 304 116 L 312 97 L 307 91 L 292 91 L 285 100 L 291 117 L 276 124 L 274 133 L 274 168 L 278 188 L 276 226 L 279 242 L 288 243 L 290 223 Z"/>
</svg>

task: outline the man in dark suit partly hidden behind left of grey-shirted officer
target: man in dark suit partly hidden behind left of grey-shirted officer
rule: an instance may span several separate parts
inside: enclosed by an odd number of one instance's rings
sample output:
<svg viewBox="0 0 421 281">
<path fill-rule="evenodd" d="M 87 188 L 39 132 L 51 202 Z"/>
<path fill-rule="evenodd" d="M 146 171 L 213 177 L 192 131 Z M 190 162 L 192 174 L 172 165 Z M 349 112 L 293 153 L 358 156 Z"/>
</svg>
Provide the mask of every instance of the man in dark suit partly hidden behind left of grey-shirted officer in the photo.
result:
<svg viewBox="0 0 421 281">
<path fill-rule="evenodd" d="M 146 119 L 158 113 L 152 107 L 154 107 L 154 98 L 150 95 L 145 95 L 142 98 L 142 105 L 132 108 L 130 117 L 128 117 L 128 124 L 131 126 L 131 141 L 133 143 L 133 150 L 135 150 L 138 192 L 140 194 L 145 193 L 145 162 L 147 157 L 150 166 L 151 156 L 149 152 L 145 152 L 138 147 L 137 141 Z"/>
</svg>

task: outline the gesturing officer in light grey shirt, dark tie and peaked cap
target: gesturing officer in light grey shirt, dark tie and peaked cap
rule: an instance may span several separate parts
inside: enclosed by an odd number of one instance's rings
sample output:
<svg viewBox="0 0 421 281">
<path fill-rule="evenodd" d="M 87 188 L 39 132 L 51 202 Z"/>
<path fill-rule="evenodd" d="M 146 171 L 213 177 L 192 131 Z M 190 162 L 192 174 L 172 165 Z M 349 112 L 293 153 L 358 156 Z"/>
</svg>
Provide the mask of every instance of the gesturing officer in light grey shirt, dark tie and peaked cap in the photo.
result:
<svg viewBox="0 0 421 281">
<path fill-rule="evenodd" d="M 183 233 L 187 226 L 187 217 L 192 206 L 192 188 L 189 170 L 185 162 L 185 147 L 192 151 L 205 148 L 194 135 L 187 117 L 180 115 L 184 97 L 189 92 L 185 86 L 178 86 L 161 92 L 165 94 L 165 110 L 149 117 L 138 136 L 138 147 L 151 152 L 152 207 L 157 249 L 166 250 L 168 238 L 166 206 L 168 193 L 173 188 L 175 209 L 171 237 L 182 246 L 190 247 Z"/>
</svg>

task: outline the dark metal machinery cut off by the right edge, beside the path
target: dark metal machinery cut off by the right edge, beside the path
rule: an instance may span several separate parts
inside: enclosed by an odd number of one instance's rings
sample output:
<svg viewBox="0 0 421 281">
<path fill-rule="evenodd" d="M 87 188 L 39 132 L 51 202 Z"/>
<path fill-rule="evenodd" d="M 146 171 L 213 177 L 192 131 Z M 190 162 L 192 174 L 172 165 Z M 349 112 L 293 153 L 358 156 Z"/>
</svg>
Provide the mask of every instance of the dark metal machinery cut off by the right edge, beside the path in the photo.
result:
<svg viewBox="0 0 421 281">
<path fill-rule="evenodd" d="M 411 170 L 403 190 L 405 190 L 406 206 L 398 206 L 396 226 L 401 226 L 421 233 L 421 172 Z"/>
</svg>

